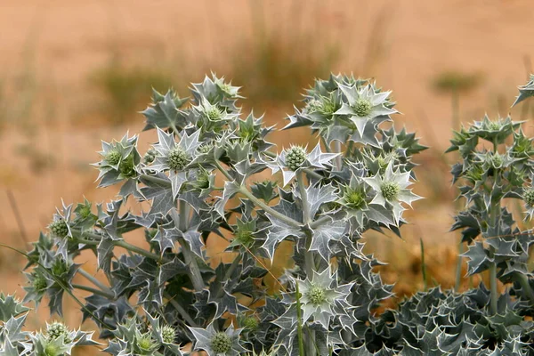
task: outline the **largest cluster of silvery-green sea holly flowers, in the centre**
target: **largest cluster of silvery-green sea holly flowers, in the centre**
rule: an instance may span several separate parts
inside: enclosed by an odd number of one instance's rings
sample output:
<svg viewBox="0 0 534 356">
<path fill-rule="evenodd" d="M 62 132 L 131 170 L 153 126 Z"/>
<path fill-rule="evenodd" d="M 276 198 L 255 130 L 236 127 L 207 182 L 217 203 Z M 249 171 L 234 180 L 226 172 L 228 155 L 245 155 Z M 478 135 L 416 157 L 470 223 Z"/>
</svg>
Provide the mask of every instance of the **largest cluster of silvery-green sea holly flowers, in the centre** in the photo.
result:
<svg viewBox="0 0 534 356">
<path fill-rule="evenodd" d="M 177 345 L 189 343 L 210 356 L 291 354 L 304 337 L 313 356 L 364 343 L 376 328 L 372 310 L 391 286 L 371 271 L 377 262 L 362 253 L 360 235 L 400 233 L 403 211 L 419 198 L 409 189 L 412 157 L 425 147 L 414 134 L 382 127 L 396 112 L 391 93 L 332 76 L 306 93 L 304 109 L 286 127 L 310 125 L 321 142 L 277 154 L 265 139 L 273 127 L 252 113 L 241 118 L 238 89 L 206 77 L 193 85 L 190 104 L 173 91 L 154 92 L 143 111 L 145 129 L 157 129 L 150 150 L 139 153 L 136 135 L 102 142 L 99 185 L 121 183 L 121 199 L 97 205 L 96 214 L 85 201 L 74 214 L 63 206 L 54 215 L 50 233 L 29 254 L 29 298 L 47 294 L 51 310 L 61 312 L 64 290 L 91 292 L 85 316 L 111 338 L 107 350 L 115 354 L 180 354 Z M 264 170 L 281 171 L 282 182 L 254 182 Z M 216 174 L 225 179 L 221 187 Z M 124 212 L 127 199 L 149 202 L 150 209 Z M 145 231 L 148 248 L 127 242 L 135 230 Z M 210 267 L 206 242 L 214 236 L 229 239 L 228 251 L 237 253 L 232 263 Z M 280 297 L 267 293 L 258 257 L 272 260 L 284 240 L 294 243 L 295 268 L 277 282 Z M 129 254 L 117 255 L 116 247 Z M 74 263 L 85 249 L 109 286 Z M 49 273 L 58 261 L 61 271 Z M 93 284 L 73 283 L 76 274 Z M 145 316 L 136 320 L 143 321 L 129 321 L 140 306 Z M 143 325 L 150 315 L 174 328 L 175 344 L 149 333 Z"/>
</svg>

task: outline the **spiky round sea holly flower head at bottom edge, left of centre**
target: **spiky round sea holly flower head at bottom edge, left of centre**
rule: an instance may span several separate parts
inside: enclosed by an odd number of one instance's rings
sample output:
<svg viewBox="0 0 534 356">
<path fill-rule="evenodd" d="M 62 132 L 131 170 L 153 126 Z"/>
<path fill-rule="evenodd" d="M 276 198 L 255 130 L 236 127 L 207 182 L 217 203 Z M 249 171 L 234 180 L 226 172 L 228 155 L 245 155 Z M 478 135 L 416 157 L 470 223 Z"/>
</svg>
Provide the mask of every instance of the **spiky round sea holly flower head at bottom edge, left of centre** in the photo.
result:
<svg viewBox="0 0 534 356">
<path fill-rule="evenodd" d="M 233 326 L 225 331 L 216 331 L 214 322 L 207 328 L 190 328 L 196 339 L 193 351 L 204 350 L 208 356 L 238 356 L 246 352 L 239 344 L 242 329 L 234 330 Z"/>
</svg>

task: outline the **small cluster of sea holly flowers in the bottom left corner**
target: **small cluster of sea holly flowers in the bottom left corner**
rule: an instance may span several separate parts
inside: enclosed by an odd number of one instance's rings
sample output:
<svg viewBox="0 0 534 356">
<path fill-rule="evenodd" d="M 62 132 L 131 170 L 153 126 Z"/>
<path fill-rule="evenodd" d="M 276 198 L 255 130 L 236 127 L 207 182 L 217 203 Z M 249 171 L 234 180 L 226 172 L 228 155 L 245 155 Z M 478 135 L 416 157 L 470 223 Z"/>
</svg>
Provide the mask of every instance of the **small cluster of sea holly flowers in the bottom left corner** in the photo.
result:
<svg viewBox="0 0 534 356">
<path fill-rule="evenodd" d="M 45 330 L 23 331 L 29 308 L 13 295 L 0 294 L 0 354 L 28 356 L 70 355 L 77 346 L 96 345 L 93 332 L 70 330 L 60 321 L 46 324 Z"/>
</svg>

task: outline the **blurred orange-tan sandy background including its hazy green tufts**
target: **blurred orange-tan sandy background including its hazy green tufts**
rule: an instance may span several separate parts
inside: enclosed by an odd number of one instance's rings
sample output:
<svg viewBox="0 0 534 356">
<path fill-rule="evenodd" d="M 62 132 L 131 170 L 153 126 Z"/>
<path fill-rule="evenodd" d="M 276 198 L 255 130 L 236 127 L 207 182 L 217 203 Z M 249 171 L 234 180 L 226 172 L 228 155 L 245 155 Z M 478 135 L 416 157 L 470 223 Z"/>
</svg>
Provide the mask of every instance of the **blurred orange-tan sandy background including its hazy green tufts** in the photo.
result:
<svg viewBox="0 0 534 356">
<path fill-rule="evenodd" d="M 191 81 L 213 70 L 244 87 L 246 112 L 254 107 L 284 125 L 314 77 L 352 72 L 392 90 L 403 113 L 395 126 L 432 147 L 416 158 L 415 191 L 427 199 L 408 214 L 405 240 L 368 236 L 368 251 L 390 263 L 384 279 L 398 280 L 402 295 L 422 287 L 423 239 L 429 282 L 450 287 L 454 157 L 442 152 L 452 117 L 508 113 L 531 71 L 533 15 L 531 0 L 1 1 L 1 242 L 26 248 L 24 237 L 37 238 L 61 198 L 113 198 L 116 188 L 94 189 L 89 163 L 101 139 L 142 129 L 136 112 L 150 101 L 151 85 L 174 85 L 185 96 Z M 530 134 L 532 114 L 528 106 L 513 112 L 529 120 Z M 291 140 L 315 140 L 300 133 Z M 290 140 L 287 133 L 271 139 L 279 150 Z M 142 150 L 154 141 L 154 133 L 142 134 Z M 81 262 L 94 268 L 90 256 Z M 0 249 L 0 289 L 23 294 L 22 265 Z"/>
</svg>

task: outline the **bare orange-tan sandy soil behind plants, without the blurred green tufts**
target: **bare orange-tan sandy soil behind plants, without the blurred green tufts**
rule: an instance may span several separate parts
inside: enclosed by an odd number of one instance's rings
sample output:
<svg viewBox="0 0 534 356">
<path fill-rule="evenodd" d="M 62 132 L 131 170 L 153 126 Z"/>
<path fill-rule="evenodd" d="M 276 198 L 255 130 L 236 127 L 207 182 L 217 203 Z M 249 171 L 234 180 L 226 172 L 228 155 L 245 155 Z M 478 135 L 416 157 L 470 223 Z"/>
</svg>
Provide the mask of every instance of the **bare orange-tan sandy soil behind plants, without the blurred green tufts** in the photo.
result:
<svg viewBox="0 0 534 356">
<path fill-rule="evenodd" d="M 37 102 L 31 117 L 17 117 L 0 133 L 2 242 L 23 247 L 4 190 L 16 198 L 28 239 L 36 239 L 44 229 L 61 197 L 66 202 L 80 201 L 84 194 L 95 201 L 112 197 L 115 190 L 93 189 L 96 172 L 87 163 L 97 160 L 93 152 L 100 149 L 100 139 L 119 138 L 127 129 L 139 131 L 142 117 L 121 127 L 91 124 L 95 101 L 88 77 L 109 62 L 111 53 L 149 66 L 158 64 L 156 59 L 173 61 L 178 53 L 203 68 L 223 68 L 236 42 L 255 36 L 255 14 L 261 10 L 267 28 L 280 38 L 313 31 L 319 44 L 339 45 L 341 59 L 332 71 L 376 77 L 391 89 L 404 114 L 396 125 L 417 130 L 422 142 L 433 146 L 422 158 L 430 161 L 446 147 L 451 127 L 450 98 L 433 90 L 433 77 L 448 69 L 480 73 L 482 85 L 462 95 L 462 120 L 478 118 L 484 111 L 494 115 L 500 110 L 504 115 L 515 86 L 524 82 L 524 61 L 534 48 L 530 0 L 279 0 L 265 1 L 263 8 L 251 4 L 255 0 L 0 2 L 0 79 L 15 83 L 10 90 L 16 93 L 17 85 L 28 80 L 23 74 L 31 73 Z M 272 108 L 267 114 L 275 122 L 283 113 Z M 514 112 L 516 117 L 519 113 Z M 84 122 L 73 122 L 73 116 Z M 530 124 L 527 129 L 532 133 Z M 145 145 L 153 140 L 152 134 L 142 136 Z M 277 142 L 286 140 L 279 136 Z M 32 170 L 21 146 L 44 154 L 53 169 Z M 434 175 L 448 184 L 446 172 Z M 432 195 L 433 178 L 437 179 L 427 174 L 417 192 Z M 419 238 L 453 245 L 454 236 L 446 234 L 451 206 L 431 201 L 416 208 L 409 214 L 414 224 L 405 229 L 407 242 L 391 244 L 389 238 L 377 238 L 373 245 L 378 255 L 386 256 L 399 246 L 414 255 L 412 247 Z M 88 263 L 93 266 L 90 259 Z M 11 252 L 0 250 L 0 289 L 21 293 L 18 266 Z"/>
</svg>

